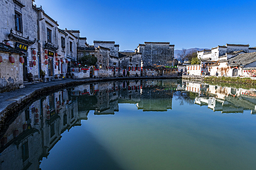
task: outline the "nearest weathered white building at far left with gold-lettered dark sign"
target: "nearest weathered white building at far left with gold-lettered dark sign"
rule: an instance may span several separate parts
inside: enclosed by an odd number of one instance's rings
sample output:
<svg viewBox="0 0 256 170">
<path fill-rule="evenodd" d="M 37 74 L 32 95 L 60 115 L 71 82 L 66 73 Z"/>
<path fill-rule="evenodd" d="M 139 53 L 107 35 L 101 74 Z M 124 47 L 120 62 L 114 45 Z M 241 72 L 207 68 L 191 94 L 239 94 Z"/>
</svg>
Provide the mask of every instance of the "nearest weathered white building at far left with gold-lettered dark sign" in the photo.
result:
<svg viewBox="0 0 256 170">
<path fill-rule="evenodd" d="M 21 87 L 28 73 L 39 74 L 37 9 L 29 0 L 1 1 L 0 16 L 0 87 Z"/>
</svg>

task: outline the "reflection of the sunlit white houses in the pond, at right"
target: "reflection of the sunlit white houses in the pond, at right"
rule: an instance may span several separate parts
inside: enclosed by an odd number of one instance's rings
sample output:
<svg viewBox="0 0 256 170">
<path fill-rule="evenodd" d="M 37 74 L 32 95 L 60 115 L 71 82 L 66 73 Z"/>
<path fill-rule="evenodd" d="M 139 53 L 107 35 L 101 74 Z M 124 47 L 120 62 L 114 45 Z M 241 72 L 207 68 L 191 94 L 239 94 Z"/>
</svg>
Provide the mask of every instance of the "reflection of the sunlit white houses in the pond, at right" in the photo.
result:
<svg viewBox="0 0 256 170">
<path fill-rule="evenodd" d="M 181 87 L 187 92 L 197 93 L 194 103 L 206 105 L 221 113 L 244 113 L 250 110 L 256 114 L 256 89 L 221 87 L 201 83 L 183 82 Z"/>
</svg>

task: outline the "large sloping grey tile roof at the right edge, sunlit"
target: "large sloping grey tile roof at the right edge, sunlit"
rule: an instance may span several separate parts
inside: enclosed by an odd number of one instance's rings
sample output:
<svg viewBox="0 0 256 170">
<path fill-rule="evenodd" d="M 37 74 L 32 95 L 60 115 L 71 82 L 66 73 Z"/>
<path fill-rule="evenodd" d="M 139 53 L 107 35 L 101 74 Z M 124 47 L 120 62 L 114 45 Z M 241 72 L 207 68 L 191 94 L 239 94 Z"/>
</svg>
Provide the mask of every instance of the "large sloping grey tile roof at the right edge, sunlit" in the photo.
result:
<svg viewBox="0 0 256 170">
<path fill-rule="evenodd" d="M 256 52 L 238 54 L 228 60 L 228 65 L 248 65 L 256 61 Z"/>
</svg>

